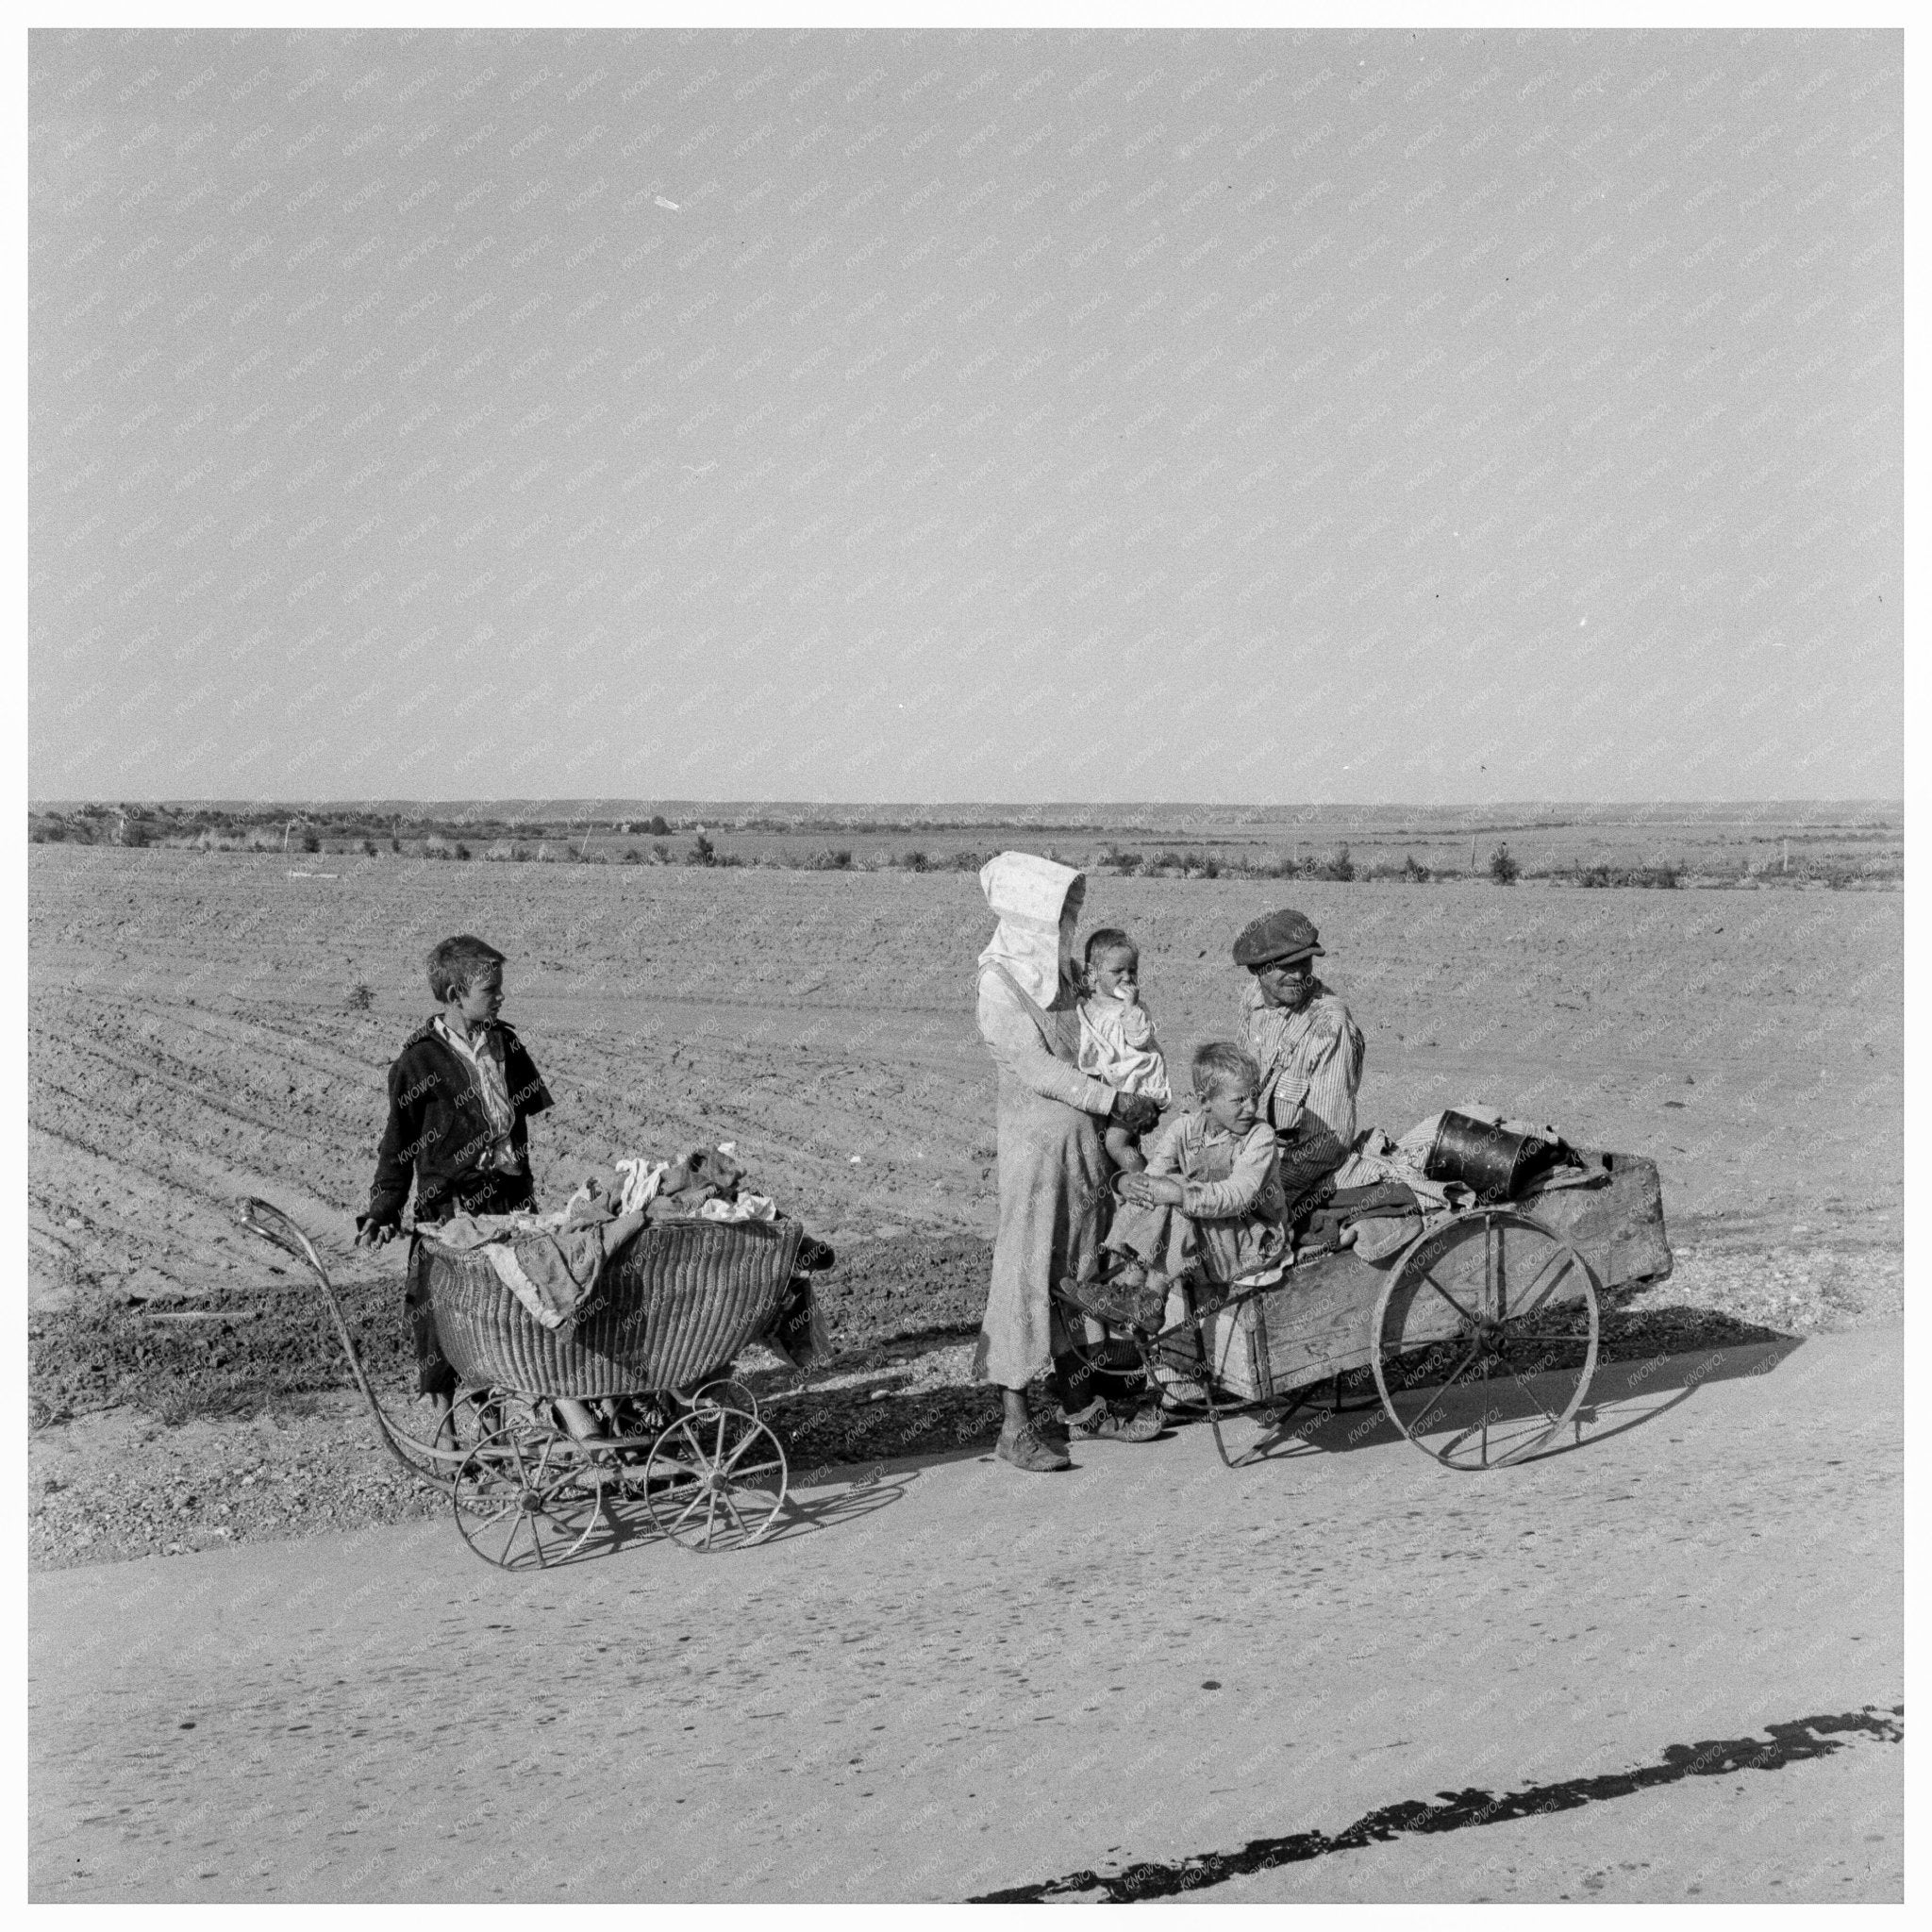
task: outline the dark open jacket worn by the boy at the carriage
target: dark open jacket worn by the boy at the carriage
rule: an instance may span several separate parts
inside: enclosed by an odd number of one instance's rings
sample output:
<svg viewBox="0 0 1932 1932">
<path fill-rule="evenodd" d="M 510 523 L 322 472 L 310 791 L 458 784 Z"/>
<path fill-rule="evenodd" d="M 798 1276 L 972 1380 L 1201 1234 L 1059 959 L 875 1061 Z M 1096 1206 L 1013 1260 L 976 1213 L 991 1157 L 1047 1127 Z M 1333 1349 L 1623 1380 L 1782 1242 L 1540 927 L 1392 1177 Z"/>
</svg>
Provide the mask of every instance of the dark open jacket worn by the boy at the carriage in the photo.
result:
<svg viewBox="0 0 1932 1932">
<path fill-rule="evenodd" d="M 446 1221 L 452 1213 L 508 1213 L 531 1204 L 535 1196 L 526 1122 L 554 1103 L 524 1041 L 502 1020 L 497 1026 L 502 1032 L 510 1105 L 516 1109 L 510 1146 L 522 1171 L 502 1175 L 477 1169 L 475 1163 L 493 1138 L 483 1097 L 462 1055 L 425 1020 L 404 1041 L 388 1070 L 388 1126 L 375 1157 L 369 1213 L 357 1225 L 400 1223 L 412 1175 L 417 1225 Z"/>
</svg>

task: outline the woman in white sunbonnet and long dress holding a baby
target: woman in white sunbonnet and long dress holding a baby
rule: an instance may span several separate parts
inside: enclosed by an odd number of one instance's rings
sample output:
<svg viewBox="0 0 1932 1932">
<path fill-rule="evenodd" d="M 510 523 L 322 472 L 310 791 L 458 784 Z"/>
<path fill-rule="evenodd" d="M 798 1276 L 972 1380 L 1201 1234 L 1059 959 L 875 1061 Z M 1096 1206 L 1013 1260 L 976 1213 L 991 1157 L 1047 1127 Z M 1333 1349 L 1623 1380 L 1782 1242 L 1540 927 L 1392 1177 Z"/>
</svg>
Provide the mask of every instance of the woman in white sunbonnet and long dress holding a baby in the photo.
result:
<svg viewBox="0 0 1932 1932">
<path fill-rule="evenodd" d="M 974 1379 L 997 1381 L 1005 1403 L 999 1455 L 1016 1468 L 1070 1468 L 1026 1410 L 1026 1385 L 1049 1364 L 1063 1406 L 1070 1393 L 1065 1335 L 1051 1285 L 1094 1273 L 1107 1151 L 1101 1122 L 1146 1130 L 1159 1107 L 1080 1072 L 1080 999 L 1074 923 L 1086 879 L 1030 852 L 1001 852 L 980 871 L 999 929 L 980 954 L 980 1037 L 999 1068 L 999 1238 L 993 1283 L 974 1354 Z M 1059 1347 L 1055 1347 L 1059 1345 Z M 1111 1406 L 1094 1397 L 1068 1406 L 1076 1439 L 1148 1441 L 1155 1405 Z"/>
</svg>

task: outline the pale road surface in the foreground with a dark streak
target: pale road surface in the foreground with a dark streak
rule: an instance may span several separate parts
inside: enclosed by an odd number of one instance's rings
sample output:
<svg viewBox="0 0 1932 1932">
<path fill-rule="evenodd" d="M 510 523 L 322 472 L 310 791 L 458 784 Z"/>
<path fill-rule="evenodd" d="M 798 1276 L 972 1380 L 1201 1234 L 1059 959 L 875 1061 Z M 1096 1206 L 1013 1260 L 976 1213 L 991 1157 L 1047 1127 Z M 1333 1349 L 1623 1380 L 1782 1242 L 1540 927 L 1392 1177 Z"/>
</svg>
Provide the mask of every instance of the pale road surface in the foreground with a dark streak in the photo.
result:
<svg viewBox="0 0 1932 1932">
<path fill-rule="evenodd" d="M 1897 1899 L 1899 1349 L 1617 1368 L 1488 1478 L 1196 1428 L 732 1557 L 43 1575 L 33 1897 Z"/>
</svg>

